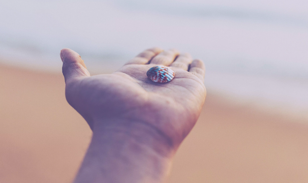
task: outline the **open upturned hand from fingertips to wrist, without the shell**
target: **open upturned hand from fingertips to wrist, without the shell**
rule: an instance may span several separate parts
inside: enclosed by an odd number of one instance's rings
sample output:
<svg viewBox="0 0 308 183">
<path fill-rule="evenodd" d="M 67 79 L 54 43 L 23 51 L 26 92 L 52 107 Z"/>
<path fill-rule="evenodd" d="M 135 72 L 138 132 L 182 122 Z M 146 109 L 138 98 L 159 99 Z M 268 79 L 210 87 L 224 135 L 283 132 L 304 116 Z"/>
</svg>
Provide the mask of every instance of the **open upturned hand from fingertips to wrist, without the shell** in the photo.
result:
<svg viewBox="0 0 308 183">
<path fill-rule="evenodd" d="M 205 101 L 205 66 L 172 49 L 145 50 L 112 74 L 90 76 L 78 53 L 61 50 L 68 103 L 93 130 L 103 135 L 106 128 L 134 134 L 143 131 L 164 143 L 164 155 L 172 156 L 196 123 Z M 146 76 L 149 68 L 169 66 L 175 77 L 168 83 L 155 83 Z M 147 137 L 147 139 L 151 138 Z M 164 147 L 163 147 L 164 148 Z"/>
</svg>

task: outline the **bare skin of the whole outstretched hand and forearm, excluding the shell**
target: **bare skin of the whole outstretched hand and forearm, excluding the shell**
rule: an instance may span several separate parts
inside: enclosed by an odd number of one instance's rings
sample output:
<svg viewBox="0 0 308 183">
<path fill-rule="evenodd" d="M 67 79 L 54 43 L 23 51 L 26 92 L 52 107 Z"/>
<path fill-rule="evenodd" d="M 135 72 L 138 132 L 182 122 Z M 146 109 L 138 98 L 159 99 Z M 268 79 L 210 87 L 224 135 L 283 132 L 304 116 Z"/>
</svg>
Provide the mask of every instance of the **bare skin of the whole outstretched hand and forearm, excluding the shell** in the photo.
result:
<svg viewBox="0 0 308 183">
<path fill-rule="evenodd" d="M 112 74 L 90 76 L 78 53 L 62 49 L 68 103 L 93 137 L 75 183 L 159 183 L 205 101 L 205 66 L 172 49 L 145 50 Z M 146 72 L 169 66 L 175 77 L 155 83 Z"/>
</svg>

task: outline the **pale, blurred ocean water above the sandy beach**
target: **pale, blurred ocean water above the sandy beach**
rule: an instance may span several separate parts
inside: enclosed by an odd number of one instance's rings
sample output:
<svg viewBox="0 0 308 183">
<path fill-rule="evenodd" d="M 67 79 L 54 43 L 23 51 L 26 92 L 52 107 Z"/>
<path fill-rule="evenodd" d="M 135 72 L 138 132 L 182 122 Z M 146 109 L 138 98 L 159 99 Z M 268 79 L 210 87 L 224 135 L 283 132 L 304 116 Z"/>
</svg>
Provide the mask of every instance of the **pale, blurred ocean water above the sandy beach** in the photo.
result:
<svg viewBox="0 0 308 183">
<path fill-rule="evenodd" d="M 204 60 L 212 90 L 308 114 L 306 0 L 0 2 L 7 64 L 61 72 L 67 47 L 99 73 L 153 46 Z"/>
</svg>

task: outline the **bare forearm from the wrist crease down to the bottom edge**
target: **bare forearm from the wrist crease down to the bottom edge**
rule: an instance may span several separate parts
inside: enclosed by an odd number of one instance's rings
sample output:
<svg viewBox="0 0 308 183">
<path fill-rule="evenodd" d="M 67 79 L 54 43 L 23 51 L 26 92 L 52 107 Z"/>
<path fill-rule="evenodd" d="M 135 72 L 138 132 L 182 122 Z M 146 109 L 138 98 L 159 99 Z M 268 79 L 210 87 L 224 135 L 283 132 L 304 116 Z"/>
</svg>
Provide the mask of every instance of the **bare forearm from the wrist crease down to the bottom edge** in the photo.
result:
<svg viewBox="0 0 308 183">
<path fill-rule="evenodd" d="M 74 183 L 160 183 L 172 155 L 172 142 L 147 123 L 96 122 Z"/>
</svg>

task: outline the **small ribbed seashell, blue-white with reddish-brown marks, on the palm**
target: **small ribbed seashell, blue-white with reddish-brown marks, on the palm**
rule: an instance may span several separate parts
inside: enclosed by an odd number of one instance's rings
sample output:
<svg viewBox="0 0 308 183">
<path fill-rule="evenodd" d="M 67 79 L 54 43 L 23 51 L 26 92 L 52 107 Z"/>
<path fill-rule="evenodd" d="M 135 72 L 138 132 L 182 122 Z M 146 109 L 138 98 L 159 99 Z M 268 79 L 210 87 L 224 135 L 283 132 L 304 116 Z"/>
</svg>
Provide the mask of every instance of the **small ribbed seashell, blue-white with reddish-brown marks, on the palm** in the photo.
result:
<svg viewBox="0 0 308 183">
<path fill-rule="evenodd" d="M 156 83 L 166 83 L 174 78 L 174 72 L 165 66 L 155 66 L 148 70 L 147 76 Z"/>
</svg>

